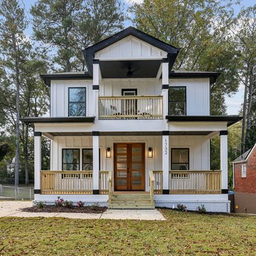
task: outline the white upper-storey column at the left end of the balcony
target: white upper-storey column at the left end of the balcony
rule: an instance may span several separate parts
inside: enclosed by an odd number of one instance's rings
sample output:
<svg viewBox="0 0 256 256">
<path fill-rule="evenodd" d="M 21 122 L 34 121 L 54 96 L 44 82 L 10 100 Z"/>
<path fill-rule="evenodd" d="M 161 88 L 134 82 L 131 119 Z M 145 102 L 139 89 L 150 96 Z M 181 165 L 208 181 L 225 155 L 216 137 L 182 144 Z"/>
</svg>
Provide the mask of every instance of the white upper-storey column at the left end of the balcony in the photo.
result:
<svg viewBox="0 0 256 256">
<path fill-rule="evenodd" d="M 98 93 L 100 90 L 100 64 L 98 60 L 93 60 L 93 116 L 98 118 Z"/>
</svg>

